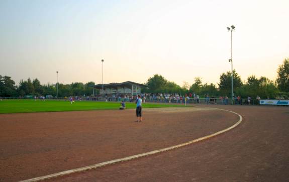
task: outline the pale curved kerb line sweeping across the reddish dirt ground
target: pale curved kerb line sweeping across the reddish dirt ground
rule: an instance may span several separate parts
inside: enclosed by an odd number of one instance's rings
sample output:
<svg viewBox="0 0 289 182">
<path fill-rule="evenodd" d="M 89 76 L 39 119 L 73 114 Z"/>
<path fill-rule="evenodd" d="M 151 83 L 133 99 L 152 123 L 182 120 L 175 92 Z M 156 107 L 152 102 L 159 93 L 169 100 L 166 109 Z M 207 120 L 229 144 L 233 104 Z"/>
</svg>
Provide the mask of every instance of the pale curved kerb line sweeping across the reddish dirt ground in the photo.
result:
<svg viewBox="0 0 289 182">
<path fill-rule="evenodd" d="M 215 108 L 215 109 L 219 109 L 219 108 Z M 160 152 L 165 152 L 165 151 L 168 151 L 168 150 L 176 149 L 176 148 L 179 148 L 179 147 L 184 147 L 186 145 L 197 143 L 197 142 L 200 142 L 202 140 L 206 140 L 206 139 L 209 139 L 211 137 L 214 137 L 214 136 L 220 135 L 222 133 L 225 133 L 225 132 L 237 127 L 243 120 L 243 117 L 240 114 L 236 113 L 236 112 L 233 112 L 233 111 L 230 111 L 230 110 L 226 110 L 226 109 L 219 109 L 219 110 L 224 110 L 224 111 L 228 111 L 228 112 L 232 112 L 234 114 L 237 114 L 240 117 L 240 119 L 239 119 L 239 121 L 236 124 L 234 124 L 233 126 L 227 128 L 225 130 L 222 130 L 222 131 L 219 131 L 217 133 L 214 133 L 214 134 L 211 134 L 211 135 L 208 135 L 208 136 L 205 136 L 205 137 L 201 137 L 201 138 L 189 141 L 189 142 L 185 142 L 185 143 L 182 143 L 182 144 L 178 144 L 178 145 L 174 145 L 174 146 L 171 146 L 171 147 L 167 147 L 167 148 L 163 148 L 163 149 L 159 149 L 159 150 L 154 150 L 154 151 L 146 152 L 146 153 L 142 153 L 142 154 L 132 155 L 132 156 L 128 156 L 128 157 L 124 157 L 124 158 L 120 158 L 120 159 L 110 160 L 110 161 L 107 161 L 107 162 L 102 162 L 102 163 L 98 163 L 98 164 L 92 164 L 92 165 L 88 165 L 88 166 L 85 166 L 85 167 L 65 170 L 65 171 L 62 171 L 62 172 L 54 173 L 54 174 L 49 174 L 49 175 L 44 175 L 44 176 L 35 177 L 35 178 L 31 178 L 31 179 L 26 179 L 26 180 L 22 180 L 22 181 L 19 181 L 19 182 L 40 181 L 40 180 L 49 179 L 49 178 L 53 178 L 53 177 L 58 177 L 58 176 L 62 176 L 62 175 L 68 175 L 68 174 L 75 173 L 75 172 L 81 172 L 81 171 L 85 171 L 85 170 L 89 170 L 89 169 L 103 167 L 105 165 L 115 164 L 115 163 L 118 163 L 118 162 L 124 162 L 124 161 L 128 161 L 128 160 L 136 159 L 136 158 L 139 158 L 139 157 L 149 156 L 149 155 L 157 154 L 157 153 L 160 153 Z"/>
</svg>

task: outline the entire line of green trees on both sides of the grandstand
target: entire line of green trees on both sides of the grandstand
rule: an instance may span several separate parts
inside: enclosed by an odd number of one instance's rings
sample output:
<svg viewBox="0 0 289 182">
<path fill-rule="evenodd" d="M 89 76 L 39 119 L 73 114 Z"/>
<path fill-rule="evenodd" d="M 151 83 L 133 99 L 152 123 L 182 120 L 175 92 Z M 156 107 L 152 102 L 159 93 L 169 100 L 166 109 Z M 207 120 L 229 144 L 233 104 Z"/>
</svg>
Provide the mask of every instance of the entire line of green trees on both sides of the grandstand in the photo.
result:
<svg viewBox="0 0 289 182">
<path fill-rule="evenodd" d="M 59 84 L 58 96 L 90 96 L 93 93 L 98 94 L 97 89 L 93 89 L 91 85 L 94 82 L 71 84 Z M 142 88 L 142 93 L 196 93 L 203 97 L 205 94 L 210 96 L 228 96 L 231 97 L 231 72 L 220 75 L 217 85 L 211 83 L 203 83 L 202 78 L 196 77 L 192 85 L 184 83 L 182 87 L 174 82 L 166 80 L 163 76 L 155 74 L 150 77 Z M 242 81 L 241 77 L 233 70 L 233 87 L 235 96 L 252 97 L 260 96 L 261 98 L 289 97 L 289 58 L 284 59 L 283 64 L 278 67 L 276 81 L 269 80 L 266 77 L 257 78 L 251 75 L 246 81 Z M 19 97 L 25 95 L 56 96 L 56 85 L 41 85 L 38 79 L 26 81 L 21 80 L 16 86 L 15 82 L 9 76 L 0 75 L 0 96 L 1 97 Z"/>
</svg>

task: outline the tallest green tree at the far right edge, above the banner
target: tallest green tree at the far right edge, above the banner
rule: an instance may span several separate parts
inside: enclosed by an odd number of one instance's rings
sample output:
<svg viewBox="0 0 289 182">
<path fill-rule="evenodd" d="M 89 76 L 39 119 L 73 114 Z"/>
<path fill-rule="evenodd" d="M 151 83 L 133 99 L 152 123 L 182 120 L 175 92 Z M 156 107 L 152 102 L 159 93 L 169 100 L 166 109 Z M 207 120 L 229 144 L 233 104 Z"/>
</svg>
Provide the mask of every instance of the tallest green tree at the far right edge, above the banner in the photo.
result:
<svg viewBox="0 0 289 182">
<path fill-rule="evenodd" d="M 280 91 L 289 92 L 289 58 L 284 59 L 279 66 L 276 82 Z"/>
</svg>

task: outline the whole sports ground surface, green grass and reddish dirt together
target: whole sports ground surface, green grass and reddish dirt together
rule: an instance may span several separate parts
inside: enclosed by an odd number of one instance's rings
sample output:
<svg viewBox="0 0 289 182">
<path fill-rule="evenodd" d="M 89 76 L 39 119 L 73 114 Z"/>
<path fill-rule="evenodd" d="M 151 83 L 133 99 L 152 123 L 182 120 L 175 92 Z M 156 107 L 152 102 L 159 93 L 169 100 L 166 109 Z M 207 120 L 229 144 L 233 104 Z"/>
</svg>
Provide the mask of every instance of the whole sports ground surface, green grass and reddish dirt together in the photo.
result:
<svg viewBox="0 0 289 182">
<path fill-rule="evenodd" d="M 289 177 L 288 107 L 145 103 L 136 123 L 135 104 L 119 105 L 1 101 L 0 181 Z"/>
</svg>

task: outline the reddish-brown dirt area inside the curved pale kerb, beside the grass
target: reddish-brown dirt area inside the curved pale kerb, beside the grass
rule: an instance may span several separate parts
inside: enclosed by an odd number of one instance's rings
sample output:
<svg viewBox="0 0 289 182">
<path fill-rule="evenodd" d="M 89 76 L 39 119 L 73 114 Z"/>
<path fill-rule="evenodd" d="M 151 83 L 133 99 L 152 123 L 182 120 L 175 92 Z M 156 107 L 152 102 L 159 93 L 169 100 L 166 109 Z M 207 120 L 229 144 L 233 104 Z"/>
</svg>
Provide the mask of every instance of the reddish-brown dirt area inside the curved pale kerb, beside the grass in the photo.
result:
<svg viewBox="0 0 289 182">
<path fill-rule="evenodd" d="M 1 114 L 0 181 L 169 147 L 223 130 L 238 120 L 235 114 L 208 108 L 144 109 L 143 114 L 142 123 L 134 122 L 133 109 Z"/>
</svg>

